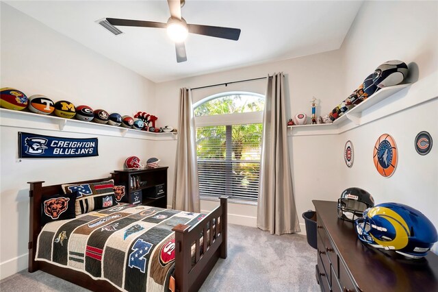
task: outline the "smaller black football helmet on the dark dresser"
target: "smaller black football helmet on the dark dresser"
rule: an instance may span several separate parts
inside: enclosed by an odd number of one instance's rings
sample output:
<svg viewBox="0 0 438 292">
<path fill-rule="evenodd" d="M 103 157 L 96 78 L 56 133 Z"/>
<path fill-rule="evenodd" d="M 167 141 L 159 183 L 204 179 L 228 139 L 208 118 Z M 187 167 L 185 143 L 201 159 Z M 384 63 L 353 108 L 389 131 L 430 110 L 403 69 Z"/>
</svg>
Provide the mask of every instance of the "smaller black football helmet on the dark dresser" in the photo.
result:
<svg viewBox="0 0 438 292">
<path fill-rule="evenodd" d="M 355 221 L 363 216 L 363 211 L 374 207 L 372 195 L 362 188 L 347 188 L 337 200 L 337 217 Z"/>
</svg>

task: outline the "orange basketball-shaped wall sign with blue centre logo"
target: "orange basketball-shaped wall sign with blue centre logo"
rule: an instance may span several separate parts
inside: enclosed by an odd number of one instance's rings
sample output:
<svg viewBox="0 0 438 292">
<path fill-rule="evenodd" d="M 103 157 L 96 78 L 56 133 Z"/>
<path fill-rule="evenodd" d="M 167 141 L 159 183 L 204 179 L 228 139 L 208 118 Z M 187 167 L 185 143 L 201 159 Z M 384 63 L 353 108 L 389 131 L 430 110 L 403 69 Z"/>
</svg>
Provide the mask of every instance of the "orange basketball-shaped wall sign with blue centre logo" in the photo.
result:
<svg viewBox="0 0 438 292">
<path fill-rule="evenodd" d="M 391 176 L 397 166 L 397 147 L 394 138 L 389 134 L 378 137 L 372 157 L 378 173 L 385 178 Z"/>
</svg>

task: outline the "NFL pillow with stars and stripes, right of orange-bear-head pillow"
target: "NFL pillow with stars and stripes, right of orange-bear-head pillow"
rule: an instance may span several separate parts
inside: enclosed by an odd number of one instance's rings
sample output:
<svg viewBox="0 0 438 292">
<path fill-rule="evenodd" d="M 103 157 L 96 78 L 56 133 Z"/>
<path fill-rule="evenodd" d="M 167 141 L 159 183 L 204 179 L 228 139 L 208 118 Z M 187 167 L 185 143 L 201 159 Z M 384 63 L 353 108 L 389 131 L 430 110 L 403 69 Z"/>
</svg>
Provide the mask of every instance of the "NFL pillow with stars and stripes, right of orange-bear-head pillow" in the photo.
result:
<svg viewBox="0 0 438 292">
<path fill-rule="evenodd" d="M 62 184 L 64 193 L 77 193 L 76 215 L 117 205 L 113 188 L 114 180 L 89 182 L 88 184 Z"/>
</svg>

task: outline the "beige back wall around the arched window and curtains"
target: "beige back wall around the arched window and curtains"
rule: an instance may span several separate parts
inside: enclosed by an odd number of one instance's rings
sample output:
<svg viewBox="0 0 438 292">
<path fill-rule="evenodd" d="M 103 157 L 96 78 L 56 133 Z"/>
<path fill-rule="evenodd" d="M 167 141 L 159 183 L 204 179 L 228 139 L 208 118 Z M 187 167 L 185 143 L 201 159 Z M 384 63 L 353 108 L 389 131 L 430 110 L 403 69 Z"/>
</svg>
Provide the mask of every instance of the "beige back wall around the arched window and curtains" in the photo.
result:
<svg viewBox="0 0 438 292">
<path fill-rule="evenodd" d="M 176 127 L 178 92 L 179 88 L 195 88 L 210 84 L 220 84 L 235 80 L 247 80 L 256 77 L 267 76 L 274 72 L 283 71 L 286 74 L 287 87 L 287 113 L 292 117 L 298 112 L 311 114 L 311 98 L 320 99 L 317 108 L 318 114 L 328 113 L 342 99 L 342 68 L 339 66 L 342 56 L 339 51 L 330 51 L 313 56 L 283 60 L 257 66 L 249 66 L 242 69 L 202 75 L 198 77 L 164 82 L 157 84 L 157 113 L 160 119 L 170 121 Z M 193 91 L 194 102 L 209 95 L 233 90 L 250 91 L 265 94 L 266 80 L 230 84 Z M 296 205 L 301 218 L 302 212 L 313 208 L 311 199 L 336 199 L 342 191 L 339 184 L 340 176 L 333 169 L 341 167 L 341 160 L 336 159 L 337 148 L 335 147 L 337 136 L 289 136 L 289 153 L 292 162 L 292 174 Z M 175 173 L 175 149 L 177 142 L 167 141 L 155 144 L 159 149 L 166 152 L 161 157 L 166 165 L 169 165 L 169 189 L 172 189 Z M 169 202 L 170 204 L 170 199 Z M 230 221 L 249 226 L 255 226 L 257 207 L 233 204 L 229 213 Z M 201 209 L 211 210 L 214 204 L 201 202 Z M 305 229 L 304 221 L 301 220 L 301 229 Z"/>
</svg>

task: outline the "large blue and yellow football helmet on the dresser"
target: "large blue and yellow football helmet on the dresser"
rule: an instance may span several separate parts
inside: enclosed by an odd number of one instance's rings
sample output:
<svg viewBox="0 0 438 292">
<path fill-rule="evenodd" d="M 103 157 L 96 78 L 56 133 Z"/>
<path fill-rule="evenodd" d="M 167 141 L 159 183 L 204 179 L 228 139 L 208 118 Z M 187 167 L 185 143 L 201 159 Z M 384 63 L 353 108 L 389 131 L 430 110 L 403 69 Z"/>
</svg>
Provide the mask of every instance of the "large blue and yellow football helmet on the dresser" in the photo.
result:
<svg viewBox="0 0 438 292">
<path fill-rule="evenodd" d="M 438 241 L 435 226 L 422 212 L 397 203 L 365 210 L 363 217 L 355 221 L 355 230 L 363 243 L 409 258 L 426 256 Z"/>
</svg>

